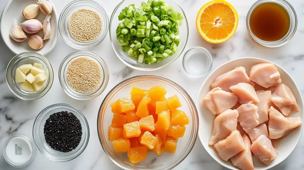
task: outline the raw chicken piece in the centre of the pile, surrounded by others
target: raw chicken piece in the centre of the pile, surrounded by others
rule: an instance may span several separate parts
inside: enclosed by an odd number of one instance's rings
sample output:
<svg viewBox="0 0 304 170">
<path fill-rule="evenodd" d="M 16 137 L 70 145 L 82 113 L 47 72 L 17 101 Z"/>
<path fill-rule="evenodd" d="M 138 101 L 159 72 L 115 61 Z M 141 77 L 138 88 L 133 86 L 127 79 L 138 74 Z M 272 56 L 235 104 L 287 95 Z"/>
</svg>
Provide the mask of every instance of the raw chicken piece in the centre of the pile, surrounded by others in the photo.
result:
<svg viewBox="0 0 304 170">
<path fill-rule="evenodd" d="M 236 109 L 239 112 L 237 120 L 246 132 L 251 131 L 259 125 L 259 115 L 257 114 L 257 106 L 253 103 L 243 104 Z"/>
</svg>

